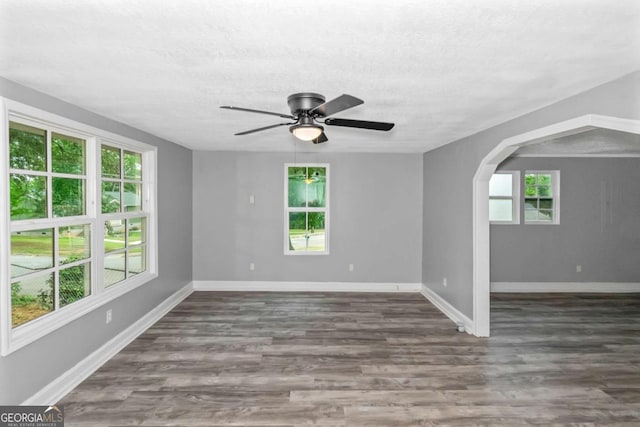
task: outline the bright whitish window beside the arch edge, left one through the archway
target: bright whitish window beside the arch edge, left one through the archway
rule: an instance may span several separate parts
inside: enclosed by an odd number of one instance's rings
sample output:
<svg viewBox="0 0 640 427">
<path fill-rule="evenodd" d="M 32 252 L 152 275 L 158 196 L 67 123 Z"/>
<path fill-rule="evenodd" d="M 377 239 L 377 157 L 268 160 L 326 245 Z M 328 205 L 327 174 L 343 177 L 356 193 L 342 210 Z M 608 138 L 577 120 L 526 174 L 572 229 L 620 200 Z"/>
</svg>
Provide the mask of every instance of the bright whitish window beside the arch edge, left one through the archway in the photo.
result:
<svg viewBox="0 0 640 427">
<path fill-rule="evenodd" d="M 499 171 L 489 180 L 489 221 L 493 224 L 520 223 L 520 172 Z"/>
</svg>

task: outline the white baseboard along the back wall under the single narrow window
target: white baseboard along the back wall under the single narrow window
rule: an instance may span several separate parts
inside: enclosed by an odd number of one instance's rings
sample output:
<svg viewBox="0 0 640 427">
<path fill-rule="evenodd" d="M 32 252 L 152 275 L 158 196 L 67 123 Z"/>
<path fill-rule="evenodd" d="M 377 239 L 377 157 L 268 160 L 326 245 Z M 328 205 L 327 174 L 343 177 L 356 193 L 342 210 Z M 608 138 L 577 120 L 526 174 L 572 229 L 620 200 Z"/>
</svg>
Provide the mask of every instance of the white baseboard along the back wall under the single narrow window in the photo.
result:
<svg viewBox="0 0 640 427">
<path fill-rule="evenodd" d="M 278 282 L 195 280 L 194 291 L 242 292 L 419 292 L 420 283 Z"/>
</svg>

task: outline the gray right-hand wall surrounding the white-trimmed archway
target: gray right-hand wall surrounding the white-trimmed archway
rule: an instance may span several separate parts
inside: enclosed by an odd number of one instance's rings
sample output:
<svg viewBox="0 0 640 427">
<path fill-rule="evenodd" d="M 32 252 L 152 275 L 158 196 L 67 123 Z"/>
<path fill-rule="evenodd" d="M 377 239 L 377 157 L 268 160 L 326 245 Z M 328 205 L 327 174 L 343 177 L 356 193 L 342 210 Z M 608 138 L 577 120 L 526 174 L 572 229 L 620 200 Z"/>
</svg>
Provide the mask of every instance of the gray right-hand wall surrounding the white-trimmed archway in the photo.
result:
<svg viewBox="0 0 640 427">
<path fill-rule="evenodd" d="M 478 165 L 505 138 L 585 114 L 640 119 L 640 72 L 424 154 L 422 281 L 466 316 L 473 315 L 472 197 Z"/>
</svg>

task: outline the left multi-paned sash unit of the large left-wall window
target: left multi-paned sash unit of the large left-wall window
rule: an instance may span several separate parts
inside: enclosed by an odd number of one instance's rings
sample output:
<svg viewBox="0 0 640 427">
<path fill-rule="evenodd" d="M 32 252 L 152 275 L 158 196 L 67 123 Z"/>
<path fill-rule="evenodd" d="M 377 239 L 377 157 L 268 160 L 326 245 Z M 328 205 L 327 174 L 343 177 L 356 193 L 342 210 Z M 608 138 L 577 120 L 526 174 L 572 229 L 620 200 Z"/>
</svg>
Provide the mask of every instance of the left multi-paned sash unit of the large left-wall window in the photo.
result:
<svg viewBox="0 0 640 427">
<path fill-rule="evenodd" d="M 9 121 L 11 325 L 91 295 L 87 141 Z"/>
</svg>

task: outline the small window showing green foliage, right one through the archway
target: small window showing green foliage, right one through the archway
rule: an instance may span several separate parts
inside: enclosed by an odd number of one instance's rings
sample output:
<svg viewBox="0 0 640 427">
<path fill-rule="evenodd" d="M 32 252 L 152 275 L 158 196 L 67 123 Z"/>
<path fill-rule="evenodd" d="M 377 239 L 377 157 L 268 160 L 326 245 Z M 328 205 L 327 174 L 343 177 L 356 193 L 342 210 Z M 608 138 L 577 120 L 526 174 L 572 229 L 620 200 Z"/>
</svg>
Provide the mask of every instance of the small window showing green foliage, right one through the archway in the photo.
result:
<svg viewBox="0 0 640 427">
<path fill-rule="evenodd" d="M 560 171 L 526 171 L 524 175 L 525 224 L 560 222 Z"/>
</svg>

